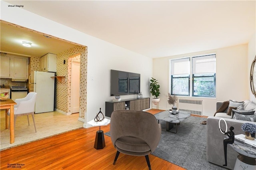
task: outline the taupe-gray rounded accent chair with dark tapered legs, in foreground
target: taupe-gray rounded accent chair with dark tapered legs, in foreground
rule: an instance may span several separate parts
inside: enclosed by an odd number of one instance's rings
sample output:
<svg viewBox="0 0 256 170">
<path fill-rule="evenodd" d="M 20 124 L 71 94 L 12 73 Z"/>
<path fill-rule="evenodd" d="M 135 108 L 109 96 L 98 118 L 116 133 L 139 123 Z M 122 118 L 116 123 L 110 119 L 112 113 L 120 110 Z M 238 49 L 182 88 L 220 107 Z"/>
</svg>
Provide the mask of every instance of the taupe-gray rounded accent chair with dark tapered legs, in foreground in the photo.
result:
<svg viewBox="0 0 256 170">
<path fill-rule="evenodd" d="M 110 136 L 117 150 L 113 165 L 121 152 L 133 156 L 145 156 L 148 168 L 151 170 L 148 155 L 154 152 L 161 137 L 161 125 L 154 115 L 144 111 L 113 111 Z"/>
</svg>

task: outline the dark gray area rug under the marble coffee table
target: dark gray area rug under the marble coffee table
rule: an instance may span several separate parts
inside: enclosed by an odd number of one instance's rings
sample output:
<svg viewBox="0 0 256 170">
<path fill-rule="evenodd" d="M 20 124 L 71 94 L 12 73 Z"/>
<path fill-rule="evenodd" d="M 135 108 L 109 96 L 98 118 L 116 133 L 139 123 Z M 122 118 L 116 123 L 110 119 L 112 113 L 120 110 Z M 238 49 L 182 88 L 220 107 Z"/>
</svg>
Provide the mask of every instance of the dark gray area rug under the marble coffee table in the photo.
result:
<svg viewBox="0 0 256 170">
<path fill-rule="evenodd" d="M 152 155 L 188 170 L 226 170 L 206 159 L 206 125 L 200 124 L 202 121 L 206 118 L 188 117 L 178 125 L 177 134 L 164 131 L 166 123 L 160 121 L 161 139 Z M 110 132 L 105 134 L 110 136 Z"/>
</svg>

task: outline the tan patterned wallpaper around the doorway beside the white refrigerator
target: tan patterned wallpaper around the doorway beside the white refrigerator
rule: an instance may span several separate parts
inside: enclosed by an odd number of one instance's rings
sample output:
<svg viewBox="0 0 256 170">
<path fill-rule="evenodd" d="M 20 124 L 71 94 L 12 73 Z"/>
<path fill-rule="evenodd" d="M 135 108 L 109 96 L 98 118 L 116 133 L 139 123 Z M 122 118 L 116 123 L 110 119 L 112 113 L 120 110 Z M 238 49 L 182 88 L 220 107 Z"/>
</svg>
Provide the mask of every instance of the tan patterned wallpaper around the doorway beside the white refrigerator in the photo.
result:
<svg viewBox="0 0 256 170">
<path fill-rule="evenodd" d="M 55 83 L 54 108 L 71 113 L 71 60 L 80 60 L 80 115 L 86 114 L 86 76 L 87 76 L 87 47 L 76 46 L 57 54 L 56 76 L 65 76 L 62 81 Z M 65 60 L 65 64 L 64 64 Z"/>
</svg>

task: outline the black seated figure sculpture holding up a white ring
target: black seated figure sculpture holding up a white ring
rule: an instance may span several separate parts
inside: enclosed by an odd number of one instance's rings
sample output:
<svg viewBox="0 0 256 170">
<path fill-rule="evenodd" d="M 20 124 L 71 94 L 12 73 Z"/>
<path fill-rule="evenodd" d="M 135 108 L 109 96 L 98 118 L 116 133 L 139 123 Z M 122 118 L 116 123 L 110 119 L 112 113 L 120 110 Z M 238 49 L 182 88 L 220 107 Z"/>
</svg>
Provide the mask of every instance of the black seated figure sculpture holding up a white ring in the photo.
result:
<svg viewBox="0 0 256 170">
<path fill-rule="evenodd" d="M 225 125 L 226 125 L 226 130 L 225 130 L 225 132 L 220 128 L 220 121 L 221 121 L 221 120 L 223 120 L 223 121 L 225 122 Z M 234 127 L 230 127 L 230 128 L 229 128 L 230 131 L 228 131 L 228 126 L 227 126 L 226 121 L 225 121 L 223 118 L 221 118 L 221 119 L 219 120 L 219 130 L 220 130 L 220 132 L 222 132 L 223 134 L 228 135 L 228 138 L 223 140 L 224 156 L 225 156 L 225 164 L 224 164 L 223 166 L 227 166 L 227 145 L 228 145 L 228 144 L 232 144 L 232 143 L 234 143 L 234 141 L 235 141 L 235 133 L 233 132 Z M 228 131 L 228 132 L 227 132 L 227 131 Z"/>
</svg>

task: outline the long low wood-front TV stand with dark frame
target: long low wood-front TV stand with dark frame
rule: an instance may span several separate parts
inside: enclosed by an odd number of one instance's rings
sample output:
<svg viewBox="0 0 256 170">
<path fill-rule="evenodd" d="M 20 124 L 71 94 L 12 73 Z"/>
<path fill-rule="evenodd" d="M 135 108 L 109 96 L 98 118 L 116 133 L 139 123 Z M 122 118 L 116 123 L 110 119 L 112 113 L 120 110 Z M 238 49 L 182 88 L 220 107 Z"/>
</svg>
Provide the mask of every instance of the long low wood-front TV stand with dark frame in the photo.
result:
<svg viewBox="0 0 256 170">
<path fill-rule="evenodd" d="M 127 106 L 125 106 L 125 104 Z M 132 98 L 132 99 L 123 99 L 120 101 L 106 101 L 105 103 L 105 116 L 111 117 L 113 111 L 116 110 L 136 110 L 142 111 L 144 109 L 149 109 L 149 97 L 143 97 L 142 99 Z"/>
</svg>

